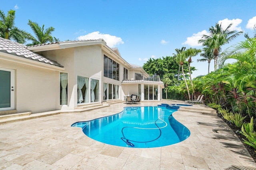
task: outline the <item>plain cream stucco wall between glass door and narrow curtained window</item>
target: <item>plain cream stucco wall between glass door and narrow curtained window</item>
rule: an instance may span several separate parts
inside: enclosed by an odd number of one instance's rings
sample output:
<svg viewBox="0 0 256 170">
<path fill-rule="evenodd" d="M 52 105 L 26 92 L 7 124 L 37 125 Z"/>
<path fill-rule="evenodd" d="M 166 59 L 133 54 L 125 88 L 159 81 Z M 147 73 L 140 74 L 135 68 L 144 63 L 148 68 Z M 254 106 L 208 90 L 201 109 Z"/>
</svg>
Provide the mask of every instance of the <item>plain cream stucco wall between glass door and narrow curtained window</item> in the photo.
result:
<svg viewBox="0 0 256 170">
<path fill-rule="evenodd" d="M 58 109 L 58 71 L 2 59 L 0 67 L 15 70 L 15 108 L 18 113 L 39 113 Z"/>
</svg>

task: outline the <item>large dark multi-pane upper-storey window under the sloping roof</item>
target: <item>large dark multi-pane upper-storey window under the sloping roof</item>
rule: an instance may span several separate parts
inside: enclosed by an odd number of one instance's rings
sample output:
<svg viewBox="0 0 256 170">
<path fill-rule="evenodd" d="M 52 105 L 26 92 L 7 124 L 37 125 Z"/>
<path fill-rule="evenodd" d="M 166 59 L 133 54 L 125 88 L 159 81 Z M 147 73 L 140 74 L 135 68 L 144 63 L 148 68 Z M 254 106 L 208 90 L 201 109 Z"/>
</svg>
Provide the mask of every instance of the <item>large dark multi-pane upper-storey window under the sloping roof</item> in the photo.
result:
<svg viewBox="0 0 256 170">
<path fill-rule="evenodd" d="M 119 81 L 119 64 L 104 55 L 104 77 Z"/>
</svg>

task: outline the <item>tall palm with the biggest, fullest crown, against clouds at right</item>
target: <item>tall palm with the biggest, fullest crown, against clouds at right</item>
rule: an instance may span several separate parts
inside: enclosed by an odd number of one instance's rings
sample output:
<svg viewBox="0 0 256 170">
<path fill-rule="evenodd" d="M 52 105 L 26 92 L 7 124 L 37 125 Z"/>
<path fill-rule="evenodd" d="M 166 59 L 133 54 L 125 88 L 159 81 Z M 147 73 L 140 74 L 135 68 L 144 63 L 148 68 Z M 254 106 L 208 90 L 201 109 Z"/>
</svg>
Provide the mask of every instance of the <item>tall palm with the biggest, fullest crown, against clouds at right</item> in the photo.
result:
<svg viewBox="0 0 256 170">
<path fill-rule="evenodd" d="M 238 35 L 243 33 L 243 31 L 230 31 L 229 29 L 231 26 L 232 23 L 230 23 L 226 29 L 223 29 L 221 23 L 216 23 L 215 27 L 212 26 L 209 28 L 210 35 L 203 35 L 202 39 L 198 41 L 199 43 L 203 43 L 203 46 L 214 49 L 213 55 L 215 71 L 217 70 L 220 47 L 226 43 L 229 43 L 232 39 L 235 39 Z"/>
</svg>

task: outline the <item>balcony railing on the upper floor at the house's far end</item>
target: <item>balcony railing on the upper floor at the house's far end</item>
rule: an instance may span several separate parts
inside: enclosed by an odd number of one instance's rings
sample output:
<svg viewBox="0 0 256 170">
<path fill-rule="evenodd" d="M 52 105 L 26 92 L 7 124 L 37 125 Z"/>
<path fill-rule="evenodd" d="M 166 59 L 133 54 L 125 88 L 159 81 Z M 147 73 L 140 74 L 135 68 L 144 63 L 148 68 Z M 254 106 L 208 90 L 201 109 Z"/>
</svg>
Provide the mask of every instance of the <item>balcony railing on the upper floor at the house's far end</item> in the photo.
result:
<svg viewBox="0 0 256 170">
<path fill-rule="evenodd" d="M 124 74 L 124 80 L 149 80 L 149 81 L 155 81 L 155 82 L 160 82 L 160 77 L 159 75 L 152 75 L 149 76 L 147 74 Z"/>
</svg>

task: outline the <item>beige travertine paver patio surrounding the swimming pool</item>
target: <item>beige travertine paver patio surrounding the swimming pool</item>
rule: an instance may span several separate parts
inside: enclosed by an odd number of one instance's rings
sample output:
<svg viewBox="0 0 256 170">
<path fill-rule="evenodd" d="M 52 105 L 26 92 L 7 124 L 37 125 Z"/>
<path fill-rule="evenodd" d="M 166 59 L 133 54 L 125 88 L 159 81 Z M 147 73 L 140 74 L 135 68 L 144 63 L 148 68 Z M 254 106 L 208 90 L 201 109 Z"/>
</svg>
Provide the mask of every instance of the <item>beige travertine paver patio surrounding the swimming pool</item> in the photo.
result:
<svg viewBox="0 0 256 170">
<path fill-rule="evenodd" d="M 156 106 L 174 101 L 142 102 Z M 182 102 L 179 102 L 182 103 Z M 84 113 L 59 114 L 0 125 L 2 169 L 226 169 L 256 167 L 234 132 L 217 116 L 173 113 L 191 132 L 185 141 L 165 147 L 139 149 L 107 145 L 90 139 L 77 121 L 119 113 L 124 103 Z M 195 108 L 206 108 L 193 106 Z"/>
</svg>

